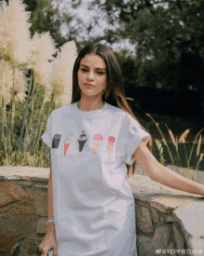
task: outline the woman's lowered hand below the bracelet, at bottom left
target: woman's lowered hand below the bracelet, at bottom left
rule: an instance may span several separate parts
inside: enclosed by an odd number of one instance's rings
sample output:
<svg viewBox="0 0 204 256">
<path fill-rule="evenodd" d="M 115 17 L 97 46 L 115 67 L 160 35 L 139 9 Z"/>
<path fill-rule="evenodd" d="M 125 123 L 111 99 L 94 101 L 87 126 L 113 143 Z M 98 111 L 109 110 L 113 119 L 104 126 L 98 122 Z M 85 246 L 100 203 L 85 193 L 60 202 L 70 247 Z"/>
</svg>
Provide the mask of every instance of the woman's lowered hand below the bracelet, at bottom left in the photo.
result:
<svg viewBox="0 0 204 256">
<path fill-rule="evenodd" d="M 43 251 L 43 256 L 48 256 L 49 249 L 53 249 L 53 256 L 57 256 L 57 241 L 55 234 L 46 233 L 39 249 Z"/>
</svg>

